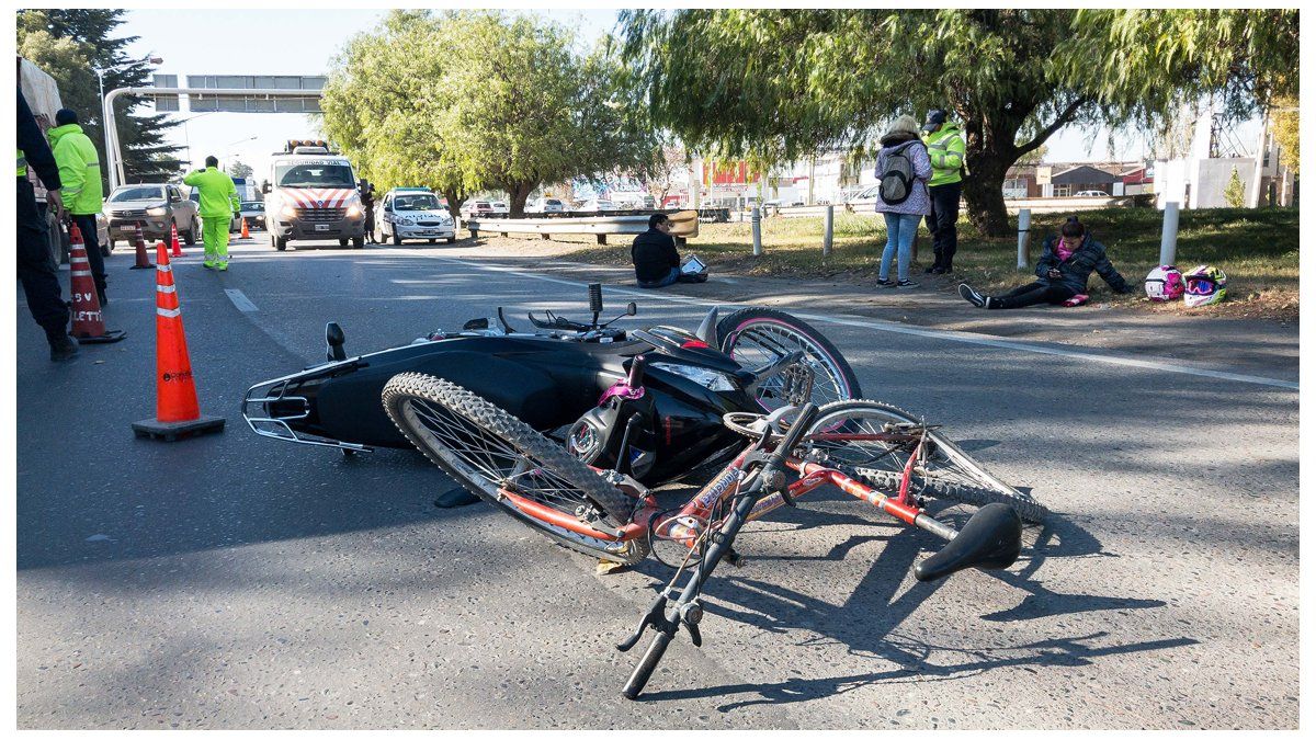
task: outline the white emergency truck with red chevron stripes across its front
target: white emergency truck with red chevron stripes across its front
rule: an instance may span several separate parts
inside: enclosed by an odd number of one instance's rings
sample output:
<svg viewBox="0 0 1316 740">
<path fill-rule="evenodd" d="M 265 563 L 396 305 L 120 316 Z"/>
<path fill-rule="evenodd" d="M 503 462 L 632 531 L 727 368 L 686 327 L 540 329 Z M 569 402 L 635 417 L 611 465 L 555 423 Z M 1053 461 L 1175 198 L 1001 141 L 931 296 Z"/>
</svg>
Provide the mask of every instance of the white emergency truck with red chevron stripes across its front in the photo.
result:
<svg viewBox="0 0 1316 740">
<path fill-rule="evenodd" d="M 321 140 L 291 140 L 270 159 L 265 223 L 270 245 L 283 251 L 291 241 L 336 238 L 366 246 L 366 211 L 351 162 Z"/>
</svg>

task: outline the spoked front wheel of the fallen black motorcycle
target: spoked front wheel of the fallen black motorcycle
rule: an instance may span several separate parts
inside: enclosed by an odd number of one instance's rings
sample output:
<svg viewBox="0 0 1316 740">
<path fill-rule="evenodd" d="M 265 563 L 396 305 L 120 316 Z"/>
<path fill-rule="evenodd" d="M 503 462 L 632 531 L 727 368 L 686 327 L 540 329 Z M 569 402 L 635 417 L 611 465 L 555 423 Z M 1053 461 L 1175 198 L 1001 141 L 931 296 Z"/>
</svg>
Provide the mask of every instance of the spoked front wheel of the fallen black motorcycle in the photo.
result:
<svg viewBox="0 0 1316 740">
<path fill-rule="evenodd" d="M 805 362 L 813 369 L 809 400 L 822 406 L 863 396 L 859 379 L 841 352 L 817 329 L 783 311 L 741 308 L 730 313 L 717 323 L 717 346 L 750 370 L 803 350 Z M 765 410 L 784 406 L 775 395 L 779 388 L 780 384 L 772 381 L 758 388 L 758 402 Z"/>
</svg>

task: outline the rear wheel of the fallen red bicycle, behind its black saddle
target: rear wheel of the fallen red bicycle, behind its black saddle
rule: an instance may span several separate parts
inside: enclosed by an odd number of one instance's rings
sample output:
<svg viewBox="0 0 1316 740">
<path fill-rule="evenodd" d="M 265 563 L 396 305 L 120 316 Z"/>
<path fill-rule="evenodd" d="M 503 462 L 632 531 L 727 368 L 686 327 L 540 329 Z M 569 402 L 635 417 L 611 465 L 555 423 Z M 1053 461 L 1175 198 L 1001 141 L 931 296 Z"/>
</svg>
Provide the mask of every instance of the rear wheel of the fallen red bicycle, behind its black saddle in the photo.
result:
<svg viewBox="0 0 1316 740">
<path fill-rule="evenodd" d="M 912 425 L 905 440 L 855 440 Z M 805 453 L 838 466 L 871 486 L 899 490 L 905 462 L 919 444 L 921 421 L 908 411 L 875 400 L 846 400 L 824 406 L 805 436 Z M 911 471 L 916 495 L 984 506 L 1000 502 L 1030 523 L 1046 517 L 1046 508 L 988 473 L 982 463 L 936 429 L 923 432 L 920 460 Z M 813 440 L 809 440 L 813 436 Z M 829 438 L 829 436 L 834 438 Z"/>
</svg>

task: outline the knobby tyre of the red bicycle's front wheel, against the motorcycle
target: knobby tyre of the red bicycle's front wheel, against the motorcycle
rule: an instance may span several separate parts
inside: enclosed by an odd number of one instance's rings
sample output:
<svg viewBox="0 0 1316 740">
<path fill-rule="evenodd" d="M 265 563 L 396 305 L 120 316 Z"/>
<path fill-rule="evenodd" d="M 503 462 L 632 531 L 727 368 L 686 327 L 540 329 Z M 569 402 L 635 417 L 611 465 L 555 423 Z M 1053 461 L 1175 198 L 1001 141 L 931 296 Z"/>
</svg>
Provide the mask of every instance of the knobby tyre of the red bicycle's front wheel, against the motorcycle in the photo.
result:
<svg viewBox="0 0 1316 740">
<path fill-rule="evenodd" d="M 540 531 L 563 546 L 603 560 L 634 565 L 649 554 L 649 542 L 644 539 L 616 542 L 579 535 L 536 519 L 499 496 L 499 483 L 492 479 L 492 474 L 497 470 L 486 469 L 482 474 L 480 466 L 496 467 L 495 458 L 516 454 L 532 463 L 528 471 L 533 471 L 537 478 L 551 475 L 571 486 L 574 491 L 559 494 L 569 503 L 571 503 L 571 498 L 576 498 L 580 504 L 594 504 L 612 527 L 622 527 L 630 520 L 630 512 L 636 503 L 630 496 L 615 489 L 590 466 L 567 453 L 562 445 L 536 432 L 525 421 L 457 383 L 424 373 L 393 375 L 384 384 L 382 400 L 388 417 L 416 449 L 468 491 L 499 511 Z M 417 411 L 417 402 L 425 404 L 428 411 Z M 429 404 L 442 407 L 449 416 L 445 419 L 428 417 L 428 413 L 434 413 Z M 483 435 L 492 437 L 491 441 L 500 440 L 511 450 L 501 449 L 487 453 L 484 460 L 476 460 L 472 463 L 468 457 L 463 457 L 451 445 L 451 437 L 449 437 L 449 444 L 445 444 L 422 416 L 430 421 L 447 424 L 445 433 L 450 436 L 476 437 Z M 470 452 L 467 450 L 467 453 Z M 541 503 L 553 506 L 549 502 Z"/>
</svg>

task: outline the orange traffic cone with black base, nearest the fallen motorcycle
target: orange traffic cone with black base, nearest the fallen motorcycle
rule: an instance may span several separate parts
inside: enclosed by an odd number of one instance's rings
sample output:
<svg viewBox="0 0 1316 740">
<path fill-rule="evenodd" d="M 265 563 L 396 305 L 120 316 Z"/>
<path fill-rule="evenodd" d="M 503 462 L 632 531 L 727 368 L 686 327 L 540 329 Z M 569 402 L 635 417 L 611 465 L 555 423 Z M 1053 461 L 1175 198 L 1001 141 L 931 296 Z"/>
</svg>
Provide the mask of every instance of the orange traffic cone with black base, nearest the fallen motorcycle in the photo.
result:
<svg viewBox="0 0 1316 740">
<path fill-rule="evenodd" d="M 172 442 L 222 432 L 224 419 L 203 416 L 196 404 L 192 361 L 187 357 L 183 312 L 174 288 L 174 269 L 164 242 L 155 248 L 155 419 L 133 423 L 138 437 Z"/>
</svg>

